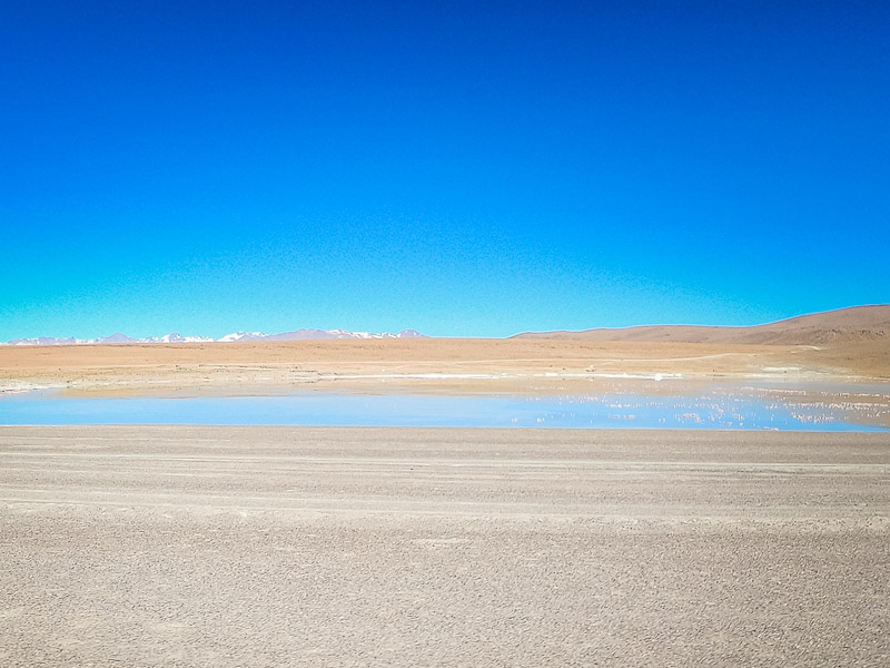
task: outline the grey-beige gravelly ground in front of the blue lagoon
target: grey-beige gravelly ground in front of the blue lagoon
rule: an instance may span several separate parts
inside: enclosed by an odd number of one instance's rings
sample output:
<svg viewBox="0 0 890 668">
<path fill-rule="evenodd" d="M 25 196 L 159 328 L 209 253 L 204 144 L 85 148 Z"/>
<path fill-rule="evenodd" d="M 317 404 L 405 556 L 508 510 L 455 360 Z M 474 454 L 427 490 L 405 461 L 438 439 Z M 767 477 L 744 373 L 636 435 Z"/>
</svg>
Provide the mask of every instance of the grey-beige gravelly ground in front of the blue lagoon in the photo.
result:
<svg viewBox="0 0 890 668">
<path fill-rule="evenodd" d="M 0 428 L 3 666 L 887 666 L 890 435 Z"/>
</svg>

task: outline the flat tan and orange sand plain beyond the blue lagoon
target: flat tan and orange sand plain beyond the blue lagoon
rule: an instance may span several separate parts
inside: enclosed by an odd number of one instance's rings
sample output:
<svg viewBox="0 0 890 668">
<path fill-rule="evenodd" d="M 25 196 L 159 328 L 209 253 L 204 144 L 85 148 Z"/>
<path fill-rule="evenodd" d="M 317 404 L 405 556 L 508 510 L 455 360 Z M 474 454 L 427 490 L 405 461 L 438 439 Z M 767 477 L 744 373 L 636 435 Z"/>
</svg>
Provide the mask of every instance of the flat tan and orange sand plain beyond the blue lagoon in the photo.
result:
<svg viewBox="0 0 890 668">
<path fill-rule="evenodd" d="M 890 383 L 884 340 L 753 345 L 548 340 L 0 346 L 0 392 L 635 392 L 714 380 Z M 644 387 L 649 383 L 651 386 Z M 670 390 L 673 391 L 673 390 Z"/>
</svg>

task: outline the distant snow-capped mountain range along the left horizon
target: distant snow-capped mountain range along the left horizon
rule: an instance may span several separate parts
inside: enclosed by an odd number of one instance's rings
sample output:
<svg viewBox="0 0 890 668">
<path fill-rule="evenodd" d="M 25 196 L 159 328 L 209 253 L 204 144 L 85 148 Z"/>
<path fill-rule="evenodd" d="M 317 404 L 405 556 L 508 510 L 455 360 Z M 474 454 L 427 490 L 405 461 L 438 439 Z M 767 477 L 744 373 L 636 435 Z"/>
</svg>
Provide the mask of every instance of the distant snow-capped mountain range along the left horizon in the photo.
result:
<svg viewBox="0 0 890 668">
<path fill-rule="evenodd" d="M 235 332 L 221 338 L 210 338 L 209 336 L 182 336 L 174 332 L 164 336 L 148 336 L 147 338 L 134 338 L 120 332 L 111 336 L 100 338 L 75 338 L 73 336 L 38 336 L 36 338 L 13 338 L 9 343 L 0 345 L 101 345 L 101 344 L 138 344 L 138 343 L 229 343 L 235 341 L 309 341 L 319 338 L 425 338 L 416 330 L 403 330 L 398 334 L 384 332 L 373 334 L 370 332 L 348 332 L 347 330 L 295 330 L 294 332 L 283 332 L 280 334 L 264 334 L 263 332 Z"/>
</svg>

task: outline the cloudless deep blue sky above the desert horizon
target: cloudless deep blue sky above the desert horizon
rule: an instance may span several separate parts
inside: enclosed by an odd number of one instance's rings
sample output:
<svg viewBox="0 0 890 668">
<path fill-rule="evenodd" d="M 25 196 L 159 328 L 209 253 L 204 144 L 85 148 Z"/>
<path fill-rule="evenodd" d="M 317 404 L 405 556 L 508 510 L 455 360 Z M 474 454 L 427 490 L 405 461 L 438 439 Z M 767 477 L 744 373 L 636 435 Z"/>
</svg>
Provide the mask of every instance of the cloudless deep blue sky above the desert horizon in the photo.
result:
<svg viewBox="0 0 890 668">
<path fill-rule="evenodd" d="M 0 4 L 0 341 L 890 302 L 890 3 Z"/>
</svg>

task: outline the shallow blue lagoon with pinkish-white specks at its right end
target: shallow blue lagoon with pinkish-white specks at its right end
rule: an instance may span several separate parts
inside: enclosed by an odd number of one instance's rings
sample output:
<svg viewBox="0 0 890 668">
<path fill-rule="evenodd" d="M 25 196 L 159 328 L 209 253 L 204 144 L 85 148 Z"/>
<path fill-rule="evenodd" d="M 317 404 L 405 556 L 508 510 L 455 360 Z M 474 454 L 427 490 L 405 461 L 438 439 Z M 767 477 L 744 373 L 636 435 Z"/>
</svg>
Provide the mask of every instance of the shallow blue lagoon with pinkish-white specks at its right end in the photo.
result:
<svg viewBox="0 0 890 668">
<path fill-rule="evenodd" d="M 68 399 L 0 396 L 0 424 L 283 424 L 318 426 L 507 426 L 890 431 L 890 395 L 712 387 L 699 395 L 416 395 L 299 393 L 285 396 Z M 790 393 L 790 394 L 789 394 Z M 848 393 L 849 394 L 849 393 Z M 877 396 L 877 399 L 876 399 Z"/>
</svg>

